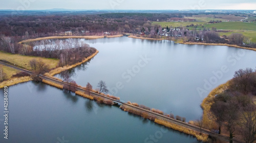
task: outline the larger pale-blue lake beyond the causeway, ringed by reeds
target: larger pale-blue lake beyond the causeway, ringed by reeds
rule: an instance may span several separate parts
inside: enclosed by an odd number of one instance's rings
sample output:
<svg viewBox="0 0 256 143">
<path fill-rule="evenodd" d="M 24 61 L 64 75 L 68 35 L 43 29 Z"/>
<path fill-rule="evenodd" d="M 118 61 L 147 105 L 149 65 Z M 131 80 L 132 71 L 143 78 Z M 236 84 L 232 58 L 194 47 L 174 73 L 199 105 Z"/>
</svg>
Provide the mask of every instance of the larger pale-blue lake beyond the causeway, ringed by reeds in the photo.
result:
<svg viewBox="0 0 256 143">
<path fill-rule="evenodd" d="M 255 68 L 256 52 L 228 46 L 185 45 L 128 37 L 84 40 L 99 53 L 72 70 L 74 79 L 97 89 L 106 82 L 110 94 L 166 113 L 197 120 L 209 92 L 233 77 L 234 71 Z M 59 77 L 57 75 L 57 77 Z"/>
</svg>

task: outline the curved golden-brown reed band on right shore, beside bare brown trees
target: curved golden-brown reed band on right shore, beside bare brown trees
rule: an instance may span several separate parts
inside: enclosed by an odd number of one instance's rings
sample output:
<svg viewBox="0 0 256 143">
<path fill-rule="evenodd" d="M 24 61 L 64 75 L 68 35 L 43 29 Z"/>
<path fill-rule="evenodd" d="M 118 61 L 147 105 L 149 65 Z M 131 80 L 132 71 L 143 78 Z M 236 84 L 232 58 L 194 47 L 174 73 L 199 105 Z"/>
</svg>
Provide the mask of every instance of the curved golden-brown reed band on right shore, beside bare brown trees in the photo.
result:
<svg viewBox="0 0 256 143">
<path fill-rule="evenodd" d="M 219 85 L 217 88 L 212 90 L 209 95 L 203 100 L 201 103 L 201 107 L 203 109 L 203 124 L 206 128 L 212 129 L 216 126 L 214 120 L 212 120 L 212 113 L 210 112 L 210 107 L 214 103 L 215 95 L 222 93 L 224 90 L 227 89 L 229 85 L 229 81 L 224 84 Z"/>
</svg>

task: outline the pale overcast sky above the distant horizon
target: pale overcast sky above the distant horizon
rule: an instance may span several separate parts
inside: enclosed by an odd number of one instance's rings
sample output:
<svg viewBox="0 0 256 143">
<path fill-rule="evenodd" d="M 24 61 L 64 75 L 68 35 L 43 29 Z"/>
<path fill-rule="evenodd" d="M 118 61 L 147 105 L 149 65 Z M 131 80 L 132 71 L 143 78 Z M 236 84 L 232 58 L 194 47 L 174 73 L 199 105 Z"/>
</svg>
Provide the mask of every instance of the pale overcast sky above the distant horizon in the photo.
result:
<svg viewBox="0 0 256 143">
<path fill-rule="evenodd" d="M 255 0 L 0 0 L 0 9 L 256 10 Z"/>
</svg>

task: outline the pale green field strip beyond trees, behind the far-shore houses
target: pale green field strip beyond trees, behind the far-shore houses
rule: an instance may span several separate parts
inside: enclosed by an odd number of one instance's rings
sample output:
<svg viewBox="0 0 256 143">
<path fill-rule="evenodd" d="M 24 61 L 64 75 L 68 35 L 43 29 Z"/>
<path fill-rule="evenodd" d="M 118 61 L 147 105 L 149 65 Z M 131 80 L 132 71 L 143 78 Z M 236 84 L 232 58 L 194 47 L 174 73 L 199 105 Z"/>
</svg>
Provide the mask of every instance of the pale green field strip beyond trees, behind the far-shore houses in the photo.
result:
<svg viewBox="0 0 256 143">
<path fill-rule="evenodd" d="M 186 26 L 186 25 L 190 25 L 190 24 L 204 24 L 206 22 L 202 22 L 202 21 L 191 21 L 191 22 L 158 22 L 158 21 L 153 21 L 152 22 L 152 25 L 155 25 L 155 24 L 159 24 L 161 25 L 162 27 L 170 27 L 170 26 L 173 26 L 173 27 L 179 27 L 179 26 Z"/>
</svg>

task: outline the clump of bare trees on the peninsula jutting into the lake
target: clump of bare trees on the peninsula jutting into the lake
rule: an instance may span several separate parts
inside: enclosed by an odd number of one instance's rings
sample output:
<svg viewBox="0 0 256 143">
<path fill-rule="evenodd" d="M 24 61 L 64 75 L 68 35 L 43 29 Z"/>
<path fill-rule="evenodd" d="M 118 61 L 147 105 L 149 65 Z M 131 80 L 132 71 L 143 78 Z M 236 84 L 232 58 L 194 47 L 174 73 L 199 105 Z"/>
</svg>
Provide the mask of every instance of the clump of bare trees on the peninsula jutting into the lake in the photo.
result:
<svg viewBox="0 0 256 143">
<path fill-rule="evenodd" d="M 41 40 L 30 43 L 30 47 L 31 49 L 28 51 L 31 51 L 24 54 L 59 59 L 58 66 L 81 62 L 96 52 L 95 48 L 90 47 L 80 39 Z"/>
</svg>

